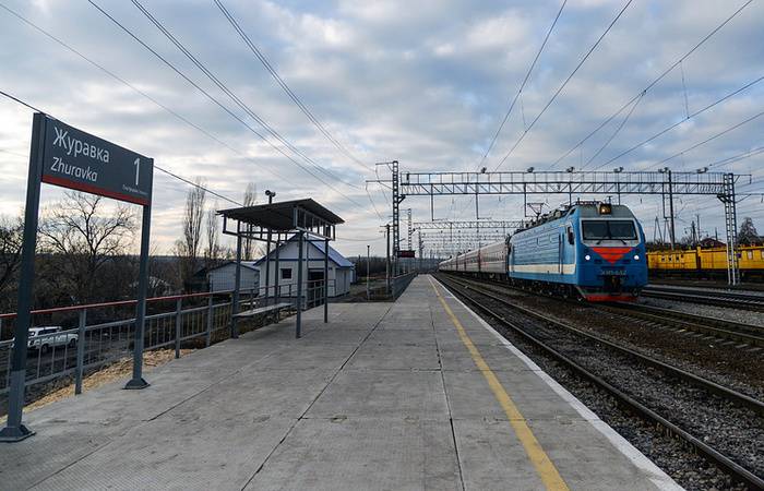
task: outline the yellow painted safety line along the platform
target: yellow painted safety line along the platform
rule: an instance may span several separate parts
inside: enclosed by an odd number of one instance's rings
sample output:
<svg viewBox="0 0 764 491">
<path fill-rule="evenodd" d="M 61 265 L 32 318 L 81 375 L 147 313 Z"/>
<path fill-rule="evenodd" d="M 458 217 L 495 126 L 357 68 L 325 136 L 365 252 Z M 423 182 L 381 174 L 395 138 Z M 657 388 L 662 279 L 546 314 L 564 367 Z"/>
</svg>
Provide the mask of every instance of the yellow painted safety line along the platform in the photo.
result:
<svg viewBox="0 0 764 491">
<path fill-rule="evenodd" d="M 493 396 L 497 398 L 504 410 L 504 414 L 509 418 L 510 424 L 512 424 L 512 429 L 514 430 L 517 440 L 520 440 L 520 442 L 523 444 L 523 448 L 525 448 L 526 455 L 536 468 L 536 472 L 541 479 L 541 482 L 544 482 L 544 486 L 548 490 L 568 490 L 568 484 L 560 476 L 560 472 L 557 470 L 557 467 L 554 467 L 554 464 L 551 462 L 547 453 L 544 452 L 541 444 L 538 443 L 538 440 L 536 440 L 536 435 L 534 435 L 534 432 L 525 421 L 525 417 L 520 409 L 517 409 L 514 400 L 512 400 L 512 397 L 510 397 L 506 390 L 504 390 L 504 386 L 501 384 L 501 382 L 499 382 L 499 379 L 496 376 L 493 371 L 490 369 L 490 367 L 488 367 L 488 363 L 480 355 L 480 351 L 469 338 L 467 331 L 464 328 L 456 315 L 454 315 L 454 312 L 451 310 L 445 299 L 443 299 L 443 297 L 440 295 L 440 291 L 438 291 L 432 278 L 429 278 L 429 280 L 430 285 L 432 285 L 432 289 L 435 290 L 435 295 L 443 306 L 443 309 L 449 314 L 451 322 L 456 327 L 456 332 L 458 333 L 462 343 L 464 343 L 466 346 L 469 355 L 473 357 L 473 361 L 475 361 L 475 364 L 480 370 L 480 373 L 482 373 L 482 376 L 486 378 L 488 385 L 493 392 Z"/>
</svg>

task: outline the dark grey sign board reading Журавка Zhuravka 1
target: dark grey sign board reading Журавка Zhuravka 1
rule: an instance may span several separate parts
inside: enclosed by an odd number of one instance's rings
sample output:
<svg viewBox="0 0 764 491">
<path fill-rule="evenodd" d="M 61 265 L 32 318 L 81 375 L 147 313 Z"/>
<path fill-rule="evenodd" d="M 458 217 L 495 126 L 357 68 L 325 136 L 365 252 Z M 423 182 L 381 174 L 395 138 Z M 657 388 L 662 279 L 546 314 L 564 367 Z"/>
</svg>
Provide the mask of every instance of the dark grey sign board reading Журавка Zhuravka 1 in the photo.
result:
<svg viewBox="0 0 764 491">
<path fill-rule="evenodd" d="M 154 160 L 45 116 L 43 182 L 147 206 Z"/>
</svg>

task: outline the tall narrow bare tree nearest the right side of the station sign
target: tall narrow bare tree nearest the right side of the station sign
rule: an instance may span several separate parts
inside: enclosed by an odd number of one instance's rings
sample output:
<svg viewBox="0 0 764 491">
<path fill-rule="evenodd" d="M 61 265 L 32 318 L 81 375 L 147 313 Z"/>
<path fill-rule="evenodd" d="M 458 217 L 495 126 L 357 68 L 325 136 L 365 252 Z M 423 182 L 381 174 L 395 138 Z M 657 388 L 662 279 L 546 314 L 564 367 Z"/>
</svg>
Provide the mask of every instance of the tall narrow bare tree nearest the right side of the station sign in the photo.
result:
<svg viewBox="0 0 764 491">
<path fill-rule="evenodd" d="M 204 180 L 198 178 L 195 185 L 186 195 L 186 209 L 182 218 L 183 236 L 175 243 L 176 254 L 180 259 L 180 279 L 184 286 L 189 285 L 198 267 L 198 259 L 202 248 L 202 220 L 205 200 Z"/>
</svg>

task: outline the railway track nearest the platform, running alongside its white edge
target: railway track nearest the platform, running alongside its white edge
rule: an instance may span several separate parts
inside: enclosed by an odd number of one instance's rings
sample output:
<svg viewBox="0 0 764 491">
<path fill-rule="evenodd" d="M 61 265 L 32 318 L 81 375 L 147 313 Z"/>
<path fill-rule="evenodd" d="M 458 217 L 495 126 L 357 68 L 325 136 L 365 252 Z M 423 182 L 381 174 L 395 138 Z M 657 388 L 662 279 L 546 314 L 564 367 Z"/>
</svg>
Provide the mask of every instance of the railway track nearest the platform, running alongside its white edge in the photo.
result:
<svg viewBox="0 0 764 491">
<path fill-rule="evenodd" d="M 735 435 L 733 438 L 741 442 L 744 441 L 743 434 L 747 433 L 747 427 L 741 421 L 745 418 L 741 416 L 741 410 L 742 414 L 750 415 L 749 418 L 762 422 L 762 424 L 753 424 L 754 430 L 751 430 L 753 431 L 751 438 L 761 438 L 756 432 L 761 432 L 764 426 L 762 419 L 764 403 L 761 400 L 585 333 L 544 313 L 513 304 L 496 291 L 453 277 L 441 276 L 439 279 L 453 288 L 454 292 L 459 294 L 478 311 L 488 314 L 503 327 L 516 333 L 552 359 L 610 394 L 628 410 L 640 415 L 653 424 L 669 430 L 692 445 L 697 453 L 725 469 L 733 479 L 744 482 L 751 489 L 764 489 L 764 479 L 761 477 L 764 470 L 759 469 L 756 475 L 745 466 L 750 464 L 745 455 L 751 455 L 745 452 L 756 455 L 755 447 L 743 451 L 741 447 L 744 445 L 731 445 L 731 452 L 739 453 L 726 455 L 707 443 L 707 441 L 717 441 L 714 432 L 723 430 L 727 432 L 726 434 Z M 610 357 L 609 366 L 608 361 L 605 361 L 608 357 Z M 619 373 L 619 370 L 622 373 Z M 619 379 L 628 381 L 624 382 L 623 388 L 619 386 L 619 382 L 613 382 Z M 646 395 L 642 396 L 641 390 L 647 391 Z M 655 400 L 656 391 L 661 393 L 668 403 Z M 728 407 L 730 405 L 735 408 Z M 697 417 L 688 417 L 684 414 L 687 409 L 682 410 L 682 408 L 690 408 L 697 414 Z M 715 421 L 716 424 L 708 423 L 708 427 L 703 427 L 705 421 Z M 701 427 L 697 428 L 697 426 Z M 727 446 L 726 451 L 729 454 L 730 445 Z M 745 464 L 740 464 L 741 460 Z"/>
</svg>

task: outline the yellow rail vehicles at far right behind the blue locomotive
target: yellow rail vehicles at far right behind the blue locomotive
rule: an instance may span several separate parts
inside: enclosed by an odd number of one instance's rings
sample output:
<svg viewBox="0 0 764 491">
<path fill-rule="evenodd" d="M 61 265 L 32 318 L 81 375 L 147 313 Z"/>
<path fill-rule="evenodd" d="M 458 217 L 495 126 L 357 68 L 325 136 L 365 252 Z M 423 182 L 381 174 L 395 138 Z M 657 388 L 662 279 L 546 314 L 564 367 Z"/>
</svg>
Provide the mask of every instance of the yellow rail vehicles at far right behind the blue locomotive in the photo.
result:
<svg viewBox="0 0 764 491">
<path fill-rule="evenodd" d="M 650 275 L 715 278 L 727 276 L 725 248 L 695 248 L 647 253 Z M 743 279 L 764 279 L 764 246 L 738 247 L 738 267 Z"/>
</svg>

